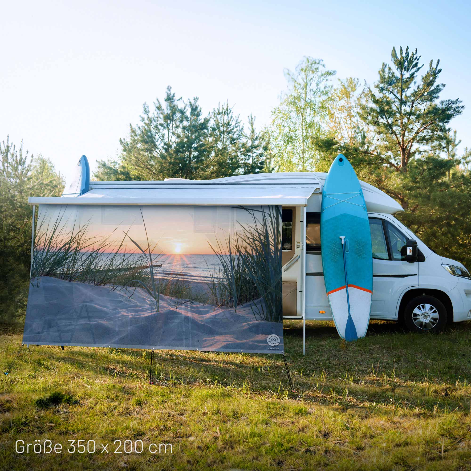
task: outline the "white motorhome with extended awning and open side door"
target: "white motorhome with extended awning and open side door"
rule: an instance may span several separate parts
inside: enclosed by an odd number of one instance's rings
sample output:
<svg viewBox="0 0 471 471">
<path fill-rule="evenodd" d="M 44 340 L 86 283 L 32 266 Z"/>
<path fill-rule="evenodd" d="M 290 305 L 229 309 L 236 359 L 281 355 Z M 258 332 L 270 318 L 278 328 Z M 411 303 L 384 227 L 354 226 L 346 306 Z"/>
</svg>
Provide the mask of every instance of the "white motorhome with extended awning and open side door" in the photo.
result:
<svg viewBox="0 0 471 471">
<path fill-rule="evenodd" d="M 39 204 L 280 205 L 283 214 L 283 316 L 332 320 L 321 259 L 320 211 L 326 174 L 265 173 L 191 181 L 91 181 L 73 197 L 30 198 Z M 440 256 L 394 217 L 403 208 L 360 182 L 368 211 L 373 258 L 371 318 L 399 320 L 417 332 L 471 319 L 471 277 Z M 66 195 L 64 195 L 66 196 Z M 69 195 L 70 196 L 70 195 Z"/>
</svg>

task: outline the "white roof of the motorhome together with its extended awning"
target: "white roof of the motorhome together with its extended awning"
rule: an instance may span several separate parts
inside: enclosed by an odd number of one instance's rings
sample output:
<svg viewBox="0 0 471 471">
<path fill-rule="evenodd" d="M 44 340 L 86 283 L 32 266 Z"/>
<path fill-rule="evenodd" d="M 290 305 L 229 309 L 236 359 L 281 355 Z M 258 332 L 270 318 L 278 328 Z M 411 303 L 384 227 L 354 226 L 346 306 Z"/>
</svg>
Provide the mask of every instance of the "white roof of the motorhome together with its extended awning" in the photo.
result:
<svg viewBox="0 0 471 471">
<path fill-rule="evenodd" d="M 213 180 L 90 181 L 73 198 L 29 198 L 31 204 L 271 205 L 307 206 L 322 193 L 326 173 L 287 172 L 236 175 Z M 396 213 L 402 207 L 381 190 L 360 182 L 368 211 Z"/>
</svg>

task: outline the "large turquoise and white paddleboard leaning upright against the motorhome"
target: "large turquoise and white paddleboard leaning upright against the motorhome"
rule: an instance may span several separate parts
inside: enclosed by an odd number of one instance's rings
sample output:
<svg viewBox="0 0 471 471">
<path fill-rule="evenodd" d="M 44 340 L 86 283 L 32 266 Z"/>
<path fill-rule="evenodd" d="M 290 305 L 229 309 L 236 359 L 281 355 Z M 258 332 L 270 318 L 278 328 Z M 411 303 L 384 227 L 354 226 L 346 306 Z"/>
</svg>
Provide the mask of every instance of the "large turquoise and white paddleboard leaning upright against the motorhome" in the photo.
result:
<svg viewBox="0 0 471 471">
<path fill-rule="evenodd" d="M 325 291 L 339 335 L 346 341 L 364 337 L 373 292 L 370 224 L 360 182 L 342 154 L 325 179 L 321 252 Z"/>
</svg>

